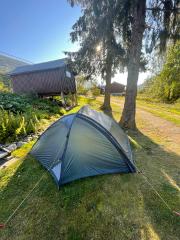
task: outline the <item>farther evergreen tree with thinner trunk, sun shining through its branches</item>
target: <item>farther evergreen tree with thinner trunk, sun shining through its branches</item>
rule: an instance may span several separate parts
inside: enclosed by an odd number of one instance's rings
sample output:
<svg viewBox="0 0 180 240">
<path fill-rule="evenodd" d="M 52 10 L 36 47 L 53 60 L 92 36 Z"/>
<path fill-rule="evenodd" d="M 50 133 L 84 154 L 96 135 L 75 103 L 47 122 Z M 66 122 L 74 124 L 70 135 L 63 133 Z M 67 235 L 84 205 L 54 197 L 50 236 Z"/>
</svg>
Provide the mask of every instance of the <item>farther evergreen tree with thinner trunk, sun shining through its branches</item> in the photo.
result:
<svg viewBox="0 0 180 240">
<path fill-rule="evenodd" d="M 72 42 L 79 41 L 80 49 L 69 53 L 74 57 L 78 72 L 87 76 L 100 75 L 106 83 L 105 97 L 102 109 L 111 111 L 110 85 L 111 78 L 119 65 L 125 64 L 125 51 L 114 28 L 114 1 L 92 0 L 71 1 L 84 6 L 83 15 L 73 26 Z"/>
</svg>

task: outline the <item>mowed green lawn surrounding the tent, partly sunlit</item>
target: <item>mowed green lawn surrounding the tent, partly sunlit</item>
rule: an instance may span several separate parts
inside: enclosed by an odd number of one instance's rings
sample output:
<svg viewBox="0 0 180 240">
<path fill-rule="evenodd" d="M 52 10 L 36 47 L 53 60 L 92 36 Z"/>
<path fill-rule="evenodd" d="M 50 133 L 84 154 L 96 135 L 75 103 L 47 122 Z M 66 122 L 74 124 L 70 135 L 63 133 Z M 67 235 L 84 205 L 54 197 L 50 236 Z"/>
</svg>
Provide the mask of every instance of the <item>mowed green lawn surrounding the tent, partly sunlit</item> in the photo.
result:
<svg viewBox="0 0 180 240">
<path fill-rule="evenodd" d="M 86 103 L 99 109 L 97 101 L 80 99 L 80 106 Z M 119 106 L 112 106 L 113 117 L 119 120 Z M 128 132 L 136 165 L 169 206 L 180 211 L 178 153 L 167 150 L 168 143 L 153 128 L 145 128 L 141 118 L 137 122 L 139 131 Z M 180 218 L 164 206 L 141 174 L 85 178 L 58 190 L 51 175 L 27 155 L 32 144 L 14 152 L 19 160 L 0 172 L 0 222 L 7 219 L 42 174 L 44 177 L 6 228 L 0 230 L 0 239 L 179 239 Z"/>
</svg>

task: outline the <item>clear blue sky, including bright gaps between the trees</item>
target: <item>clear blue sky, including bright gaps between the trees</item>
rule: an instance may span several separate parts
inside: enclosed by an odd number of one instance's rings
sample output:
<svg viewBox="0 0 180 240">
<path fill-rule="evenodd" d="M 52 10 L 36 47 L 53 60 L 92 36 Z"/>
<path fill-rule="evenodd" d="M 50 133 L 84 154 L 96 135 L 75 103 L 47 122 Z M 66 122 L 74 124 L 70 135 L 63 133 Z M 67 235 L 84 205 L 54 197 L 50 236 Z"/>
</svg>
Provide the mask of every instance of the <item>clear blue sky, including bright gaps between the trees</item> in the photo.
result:
<svg viewBox="0 0 180 240">
<path fill-rule="evenodd" d="M 0 0 L 1 52 L 33 63 L 64 57 L 74 51 L 69 33 L 81 15 L 80 7 L 67 0 Z M 139 76 L 139 84 L 146 78 Z M 116 74 L 114 81 L 126 84 L 127 74 Z"/>
</svg>

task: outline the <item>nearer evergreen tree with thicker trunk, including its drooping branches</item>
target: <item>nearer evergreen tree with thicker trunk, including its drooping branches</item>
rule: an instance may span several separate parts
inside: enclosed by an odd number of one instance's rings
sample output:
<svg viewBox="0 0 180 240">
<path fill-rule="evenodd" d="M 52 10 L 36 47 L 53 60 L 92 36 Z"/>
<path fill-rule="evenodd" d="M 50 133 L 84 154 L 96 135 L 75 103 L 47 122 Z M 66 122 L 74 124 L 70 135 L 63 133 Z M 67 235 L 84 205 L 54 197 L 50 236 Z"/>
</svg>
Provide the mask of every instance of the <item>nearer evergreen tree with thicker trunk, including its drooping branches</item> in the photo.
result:
<svg viewBox="0 0 180 240">
<path fill-rule="evenodd" d="M 128 78 L 124 109 L 120 120 L 127 128 L 136 128 L 137 82 L 143 41 L 146 52 L 155 47 L 166 49 L 168 40 L 179 38 L 179 0 L 125 0 L 126 16 L 121 17 L 123 41 L 128 45 Z M 129 21 L 128 21 L 129 19 Z M 127 26 L 128 25 L 128 26 Z M 125 27 L 124 27 L 125 26 Z"/>
</svg>

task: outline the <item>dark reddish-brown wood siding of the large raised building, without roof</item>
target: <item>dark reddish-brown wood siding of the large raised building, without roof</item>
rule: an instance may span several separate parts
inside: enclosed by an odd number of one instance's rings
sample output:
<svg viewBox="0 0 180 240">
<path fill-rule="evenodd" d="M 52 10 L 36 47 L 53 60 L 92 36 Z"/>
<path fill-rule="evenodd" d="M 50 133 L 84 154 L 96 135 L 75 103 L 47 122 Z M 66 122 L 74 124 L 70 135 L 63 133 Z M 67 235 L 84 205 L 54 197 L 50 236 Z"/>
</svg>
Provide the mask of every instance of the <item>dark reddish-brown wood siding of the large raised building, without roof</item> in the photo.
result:
<svg viewBox="0 0 180 240">
<path fill-rule="evenodd" d="M 65 71 L 66 68 L 58 68 L 13 75 L 11 76 L 13 92 L 42 95 L 75 93 L 75 79 L 66 77 Z"/>
</svg>

